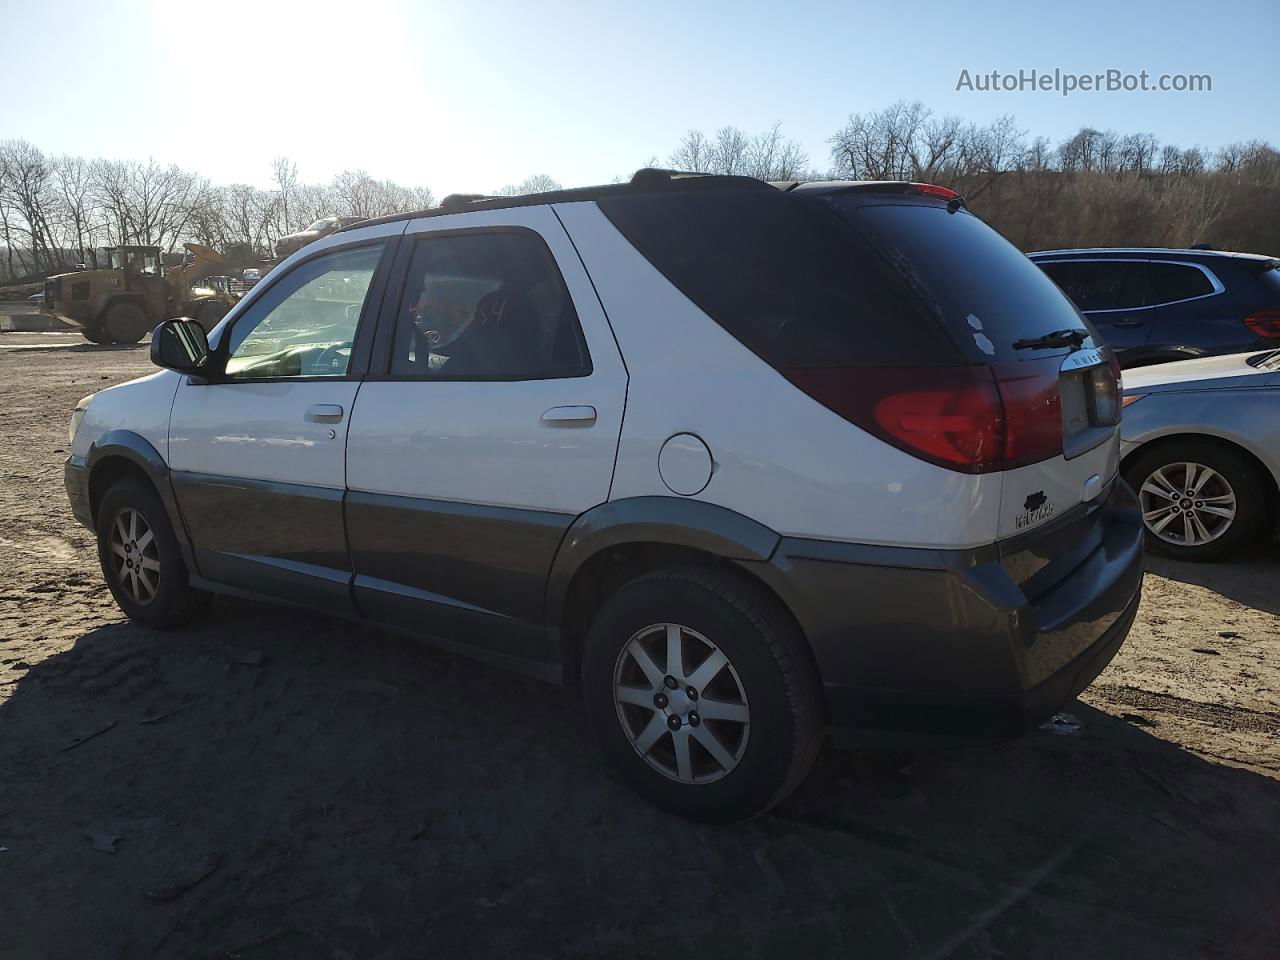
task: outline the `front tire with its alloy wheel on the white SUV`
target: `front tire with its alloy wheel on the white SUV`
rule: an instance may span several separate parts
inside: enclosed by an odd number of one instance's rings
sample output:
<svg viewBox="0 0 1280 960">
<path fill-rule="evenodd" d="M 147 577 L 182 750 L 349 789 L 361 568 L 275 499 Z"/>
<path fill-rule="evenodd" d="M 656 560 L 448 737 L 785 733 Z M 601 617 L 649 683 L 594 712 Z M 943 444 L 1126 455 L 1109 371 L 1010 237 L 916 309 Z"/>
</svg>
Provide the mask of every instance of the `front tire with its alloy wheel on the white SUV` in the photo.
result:
<svg viewBox="0 0 1280 960">
<path fill-rule="evenodd" d="M 97 507 L 97 558 L 115 603 L 151 627 L 183 623 L 207 607 L 191 586 L 169 515 L 150 485 L 128 477 Z"/>
</svg>

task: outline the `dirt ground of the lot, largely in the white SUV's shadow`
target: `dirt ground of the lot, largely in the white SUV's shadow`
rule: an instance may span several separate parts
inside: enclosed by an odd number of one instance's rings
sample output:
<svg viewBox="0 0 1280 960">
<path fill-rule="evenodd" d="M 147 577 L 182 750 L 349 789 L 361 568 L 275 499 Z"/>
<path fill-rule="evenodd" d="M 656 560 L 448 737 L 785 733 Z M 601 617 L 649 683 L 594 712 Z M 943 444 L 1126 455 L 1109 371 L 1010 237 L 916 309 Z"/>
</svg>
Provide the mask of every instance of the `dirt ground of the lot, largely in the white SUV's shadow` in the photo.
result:
<svg viewBox="0 0 1280 960">
<path fill-rule="evenodd" d="M 122 620 L 67 420 L 145 347 L 0 335 L 0 956 L 1280 957 L 1280 550 L 1153 561 L 1078 726 L 824 753 L 746 826 L 570 692 L 242 600 Z"/>
</svg>

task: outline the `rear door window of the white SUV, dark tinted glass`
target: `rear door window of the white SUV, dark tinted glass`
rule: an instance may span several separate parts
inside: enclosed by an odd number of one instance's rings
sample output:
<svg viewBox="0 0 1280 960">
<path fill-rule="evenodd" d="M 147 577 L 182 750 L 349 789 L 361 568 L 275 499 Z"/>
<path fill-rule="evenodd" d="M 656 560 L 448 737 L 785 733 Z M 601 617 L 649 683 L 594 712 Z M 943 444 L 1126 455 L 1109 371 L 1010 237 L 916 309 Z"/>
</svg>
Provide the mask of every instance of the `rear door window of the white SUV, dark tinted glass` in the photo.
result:
<svg viewBox="0 0 1280 960">
<path fill-rule="evenodd" d="M 392 375 L 545 380 L 590 371 L 573 301 L 540 237 L 474 232 L 417 242 Z"/>
</svg>

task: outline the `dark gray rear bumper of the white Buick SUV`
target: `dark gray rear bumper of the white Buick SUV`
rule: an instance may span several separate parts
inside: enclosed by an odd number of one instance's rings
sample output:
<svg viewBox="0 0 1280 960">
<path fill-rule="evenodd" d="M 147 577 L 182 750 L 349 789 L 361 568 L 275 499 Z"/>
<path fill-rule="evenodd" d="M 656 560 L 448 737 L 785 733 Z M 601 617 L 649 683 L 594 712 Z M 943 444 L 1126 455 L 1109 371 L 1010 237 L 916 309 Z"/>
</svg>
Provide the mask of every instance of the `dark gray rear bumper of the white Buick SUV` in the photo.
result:
<svg viewBox="0 0 1280 960">
<path fill-rule="evenodd" d="M 1016 736 L 1084 690 L 1133 625 L 1142 547 L 1117 480 L 991 547 L 783 539 L 750 566 L 809 637 L 837 744 L 908 746 Z"/>
</svg>

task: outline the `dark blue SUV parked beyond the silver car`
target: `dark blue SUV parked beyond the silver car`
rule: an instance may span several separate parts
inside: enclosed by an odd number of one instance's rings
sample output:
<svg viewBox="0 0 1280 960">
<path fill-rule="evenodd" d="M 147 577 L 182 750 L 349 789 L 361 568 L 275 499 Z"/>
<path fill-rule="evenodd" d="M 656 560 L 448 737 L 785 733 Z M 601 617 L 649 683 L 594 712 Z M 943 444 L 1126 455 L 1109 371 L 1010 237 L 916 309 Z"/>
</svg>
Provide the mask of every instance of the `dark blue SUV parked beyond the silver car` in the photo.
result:
<svg viewBox="0 0 1280 960">
<path fill-rule="evenodd" d="M 1028 255 L 1124 367 L 1280 347 L 1280 261 L 1211 250 L 1098 247 Z"/>
</svg>

